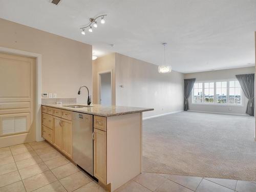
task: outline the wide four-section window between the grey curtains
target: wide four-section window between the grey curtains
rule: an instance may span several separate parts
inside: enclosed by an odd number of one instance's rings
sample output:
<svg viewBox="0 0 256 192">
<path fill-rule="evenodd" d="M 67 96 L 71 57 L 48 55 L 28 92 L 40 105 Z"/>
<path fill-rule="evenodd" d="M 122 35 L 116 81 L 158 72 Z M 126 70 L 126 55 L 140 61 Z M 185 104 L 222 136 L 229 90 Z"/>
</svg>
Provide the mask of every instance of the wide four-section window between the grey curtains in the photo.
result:
<svg viewBox="0 0 256 192">
<path fill-rule="evenodd" d="M 192 102 L 218 105 L 242 105 L 241 86 L 236 79 L 195 82 Z"/>
</svg>

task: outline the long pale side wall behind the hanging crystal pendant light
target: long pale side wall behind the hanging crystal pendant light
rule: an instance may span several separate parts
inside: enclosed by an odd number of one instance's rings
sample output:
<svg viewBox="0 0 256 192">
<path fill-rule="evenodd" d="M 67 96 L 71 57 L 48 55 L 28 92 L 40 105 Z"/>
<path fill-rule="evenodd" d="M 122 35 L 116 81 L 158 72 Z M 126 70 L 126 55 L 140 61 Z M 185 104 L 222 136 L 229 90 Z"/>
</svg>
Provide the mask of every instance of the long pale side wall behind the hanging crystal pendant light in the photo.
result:
<svg viewBox="0 0 256 192">
<path fill-rule="evenodd" d="M 150 117 L 183 110 L 184 74 L 160 74 L 158 66 L 116 54 L 116 105 L 154 108 Z M 121 88 L 120 86 L 123 86 Z"/>
</svg>

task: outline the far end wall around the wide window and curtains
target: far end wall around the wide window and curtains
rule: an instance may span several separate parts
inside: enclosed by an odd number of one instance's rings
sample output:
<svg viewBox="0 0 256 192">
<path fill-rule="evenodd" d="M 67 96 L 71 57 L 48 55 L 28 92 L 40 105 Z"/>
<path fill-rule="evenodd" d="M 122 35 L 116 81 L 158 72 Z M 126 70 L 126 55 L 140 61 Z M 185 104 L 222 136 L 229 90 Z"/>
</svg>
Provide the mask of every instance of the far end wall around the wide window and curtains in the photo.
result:
<svg viewBox="0 0 256 192">
<path fill-rule="evenodd" d="M 199 73 L 187 73 L 185 78 L 196 78 L 196 81 L 204 80 L 225 80 L 236 78 L 238 74 L 249 74 L 254 73 L 255 67 L 248 68 L 237 68 L 237 69 L 227 69 L 218 71 L 207 71 Z M 191 104 L 191 96 L 188 99 L 189 110 L 191 111 L 205 111 L 214 113 L 231 113 L 231 114 L 244 114 L 247 107 L 248 99 L 243 94 L 243 105 L 242 106 L 218 106 L 218 105 L 203 105 L 203 104 Z"/>
</svg>

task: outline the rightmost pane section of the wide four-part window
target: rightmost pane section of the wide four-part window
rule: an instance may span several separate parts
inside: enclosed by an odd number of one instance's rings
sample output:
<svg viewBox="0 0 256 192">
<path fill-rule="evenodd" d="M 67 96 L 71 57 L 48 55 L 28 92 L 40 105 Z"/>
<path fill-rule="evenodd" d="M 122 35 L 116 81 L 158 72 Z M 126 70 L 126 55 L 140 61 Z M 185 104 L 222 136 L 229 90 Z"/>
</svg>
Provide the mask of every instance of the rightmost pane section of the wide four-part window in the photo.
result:
<svg viewBox="0 0 256 192">
<path fill-rule="evenodd" d="M 229 103 L 241 104 L 241 86 L 236 80 L 229 81 Z"/>
</svg>

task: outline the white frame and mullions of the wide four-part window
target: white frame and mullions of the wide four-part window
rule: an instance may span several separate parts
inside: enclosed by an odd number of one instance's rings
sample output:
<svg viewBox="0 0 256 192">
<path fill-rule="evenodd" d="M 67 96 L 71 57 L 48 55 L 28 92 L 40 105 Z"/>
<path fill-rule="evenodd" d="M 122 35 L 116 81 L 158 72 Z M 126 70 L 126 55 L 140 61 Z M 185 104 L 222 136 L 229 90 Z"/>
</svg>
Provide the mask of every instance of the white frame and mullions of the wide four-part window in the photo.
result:
<svg viewBox="0 0 256 192">
<path fill-rule="evenodd" d="M 242 90 L 242 88 L 240 87 L 241 89 L 241 103 L 229 103 L 229 81 L 237 81 L 238 79 L 236 78 L 232 78 L 232 79 L 218 79 L 218 80 L 201 80 L 201 81 L 196 81 L 195 83 L 202 83 L 203 84 L 203 87 L 202 87 L 202 102 L 199 103 L 199 102 L 194 102 L 194 86 L 193 86 L 193 90 L 192 90 L 192 93 L 191 93 L 191 104 L 195 104 L 195 105 L 216 105 L 216 106 L 244 106 L 244 99 L 243 99 L 243 95 L 244 95 L 244 92 Z M 226 81 L 227 82 L 227 102 L 226 103 L 217 103 L 217 96 L 216 96 L 216 82 L 222 82 L 222 81 Z M 204 83 L 207 83 L 207 82 L 214 82 L 214 102 L 204 102 L 204 91 L 205 91 L 205 86 L 204 86 Z"/>
</svg>

